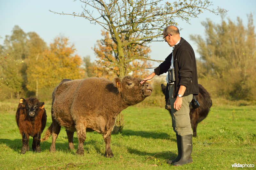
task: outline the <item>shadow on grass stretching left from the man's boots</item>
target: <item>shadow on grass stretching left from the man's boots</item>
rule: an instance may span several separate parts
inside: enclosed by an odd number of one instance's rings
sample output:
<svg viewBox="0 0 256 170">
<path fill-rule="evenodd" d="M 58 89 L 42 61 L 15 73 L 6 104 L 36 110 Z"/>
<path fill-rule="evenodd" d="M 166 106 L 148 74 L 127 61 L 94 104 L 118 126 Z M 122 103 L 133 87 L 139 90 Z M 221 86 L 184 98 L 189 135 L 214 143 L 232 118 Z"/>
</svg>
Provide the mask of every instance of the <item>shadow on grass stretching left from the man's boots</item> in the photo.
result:
<svg viewBox="0 0 256 170">
<path fill-rule="evenodd" d="M 150 159 L 155 159 L 155 158 L 161 158 L 161 159 L 165 159 L 165 160 L 171 160 L 171 159 L 175 159 L 177 157 L 177 153 L 174 153 L 174 152 L 171 152 L 171 151 L 162 151 L 162 152 L 153 152 L 153 153 L 150 153 L 150 152 L 142 152 L 140 150 L 137 150 L 137 149 L 133 149 L 131 147 L 128 147 L 127 148 L 128 152 L 130 154 L 136 154 L 136 155 L 142 155 L 142 156 L 147 156 L 147 159 L 150 160 Z M 146 159 L 146 160 L 147 160 Z"/>
</svg>

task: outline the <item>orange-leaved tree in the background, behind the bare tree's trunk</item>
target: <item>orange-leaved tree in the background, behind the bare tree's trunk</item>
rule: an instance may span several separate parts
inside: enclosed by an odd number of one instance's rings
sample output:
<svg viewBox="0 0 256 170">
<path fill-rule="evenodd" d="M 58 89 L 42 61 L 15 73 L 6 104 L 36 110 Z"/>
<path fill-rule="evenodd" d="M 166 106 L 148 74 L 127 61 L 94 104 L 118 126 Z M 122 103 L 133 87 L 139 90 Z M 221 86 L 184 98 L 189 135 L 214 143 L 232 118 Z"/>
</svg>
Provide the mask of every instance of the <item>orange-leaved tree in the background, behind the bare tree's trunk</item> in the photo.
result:
<svg viewBox="0 0 256 170">
<path fill-rule="evenodd" d="M 116 60 L 114 52 L 116 51 L 116 44 L 113 42 L 108 32 L 102 31 L 101 35 L 103 36 L 103 39 L 98 40 L 96 46 L 93 48 L 96 57 L 99 59 L 96 61 L 97 64 L 94 67 L 94 72 L 99 77 L 113 79 L 115 76 L 120 75 L 118 61 Z M 108 44 L 108 46 L 105 44 Z M 149 52 L 150 49 L 148 47 L 139 46 L 137 44 L 132 44 L 128 46 L 128 49 L 124 49 L 124 53 L 127 56 L 126 69 L 128 75 L 132 75 L 133 77 L 144 77 L 148 75 L 148 70 L 145 68 L 152 67 L 149 60 L 132 60 L 132 58 L 148 55 Z M 150 58 L 148 57 L 148 59 Z"/>
</svg>

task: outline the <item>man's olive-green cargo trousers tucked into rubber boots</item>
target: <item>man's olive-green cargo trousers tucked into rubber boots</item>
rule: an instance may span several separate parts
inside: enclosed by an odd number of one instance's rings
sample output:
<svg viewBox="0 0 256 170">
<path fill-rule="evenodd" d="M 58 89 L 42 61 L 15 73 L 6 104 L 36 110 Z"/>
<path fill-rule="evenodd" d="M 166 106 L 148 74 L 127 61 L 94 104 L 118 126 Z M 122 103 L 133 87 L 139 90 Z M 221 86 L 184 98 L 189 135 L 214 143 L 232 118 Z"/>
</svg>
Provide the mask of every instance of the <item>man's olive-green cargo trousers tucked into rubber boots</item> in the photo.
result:
<svg viewBox="0 0 256 170">
<path fill-rule="evenodd" d="M 173 108 L 174 102 L 176 97 L 172 99 L 172 92 L 173 92 L 173 85 L 169 85 L 169 96 L 170 96 L 170 104 L 172 108 L 172 127 L 173 131 L 180 135 L 192 135 L 192 129 L 190 124 L 190 117 L 189 117 L 189 103 L 192 100 L 193 95 L 183 96 L 182 97 L 182 104 L 179 111 Z"/>
</svg>

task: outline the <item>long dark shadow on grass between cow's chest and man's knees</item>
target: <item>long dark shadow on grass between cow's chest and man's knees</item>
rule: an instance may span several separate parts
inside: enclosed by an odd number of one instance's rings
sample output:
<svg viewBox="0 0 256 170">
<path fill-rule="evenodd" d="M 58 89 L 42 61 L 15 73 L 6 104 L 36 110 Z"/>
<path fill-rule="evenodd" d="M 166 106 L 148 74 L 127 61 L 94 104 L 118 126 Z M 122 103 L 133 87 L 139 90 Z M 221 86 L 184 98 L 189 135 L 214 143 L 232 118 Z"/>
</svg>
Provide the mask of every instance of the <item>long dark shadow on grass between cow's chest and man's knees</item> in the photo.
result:
<svg viewBox="0 0 256 170">
<path fill-rule="evenodd" d="M 169 134 L 163 132 L 151 132 L 151 131 L 132 131 L 123 130 L 123 136 L 140 136 L 142 138 L 153 138 L 153 139 L 170 139 L 176 142 L 176 137 L 172 138 Z"/>
</svg>

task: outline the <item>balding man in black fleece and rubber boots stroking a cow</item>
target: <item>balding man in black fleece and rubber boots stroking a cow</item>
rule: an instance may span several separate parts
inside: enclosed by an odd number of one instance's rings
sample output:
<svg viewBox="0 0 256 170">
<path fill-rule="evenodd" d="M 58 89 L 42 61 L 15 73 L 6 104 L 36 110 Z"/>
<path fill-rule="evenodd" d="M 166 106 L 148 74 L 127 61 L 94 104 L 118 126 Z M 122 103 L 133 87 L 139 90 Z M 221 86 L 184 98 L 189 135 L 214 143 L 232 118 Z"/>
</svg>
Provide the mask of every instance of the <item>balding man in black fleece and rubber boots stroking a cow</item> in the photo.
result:
<svg viewBox="0 0 256 170">
<path fill-rule="evenodd" d="M 152 79 L 155 75 L 166 73 L 174 68 L 175 81 L 169 84 L 172 127 L 176 133 L 178 156 L 167 163 L 180 166 L 192 162 L 192 130 L 189 117 L 189 103 L 193 95 L 198 95 L 196 57 L 190 44 L 180 37 L 176 26 L 167 26 L 163 31 L 165 42 L 174 47 L 172 53 L 155 68 L 154 72 L 140 83 Z"/>
</svg>

